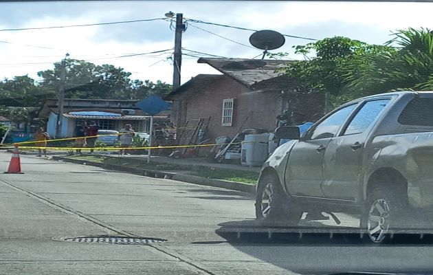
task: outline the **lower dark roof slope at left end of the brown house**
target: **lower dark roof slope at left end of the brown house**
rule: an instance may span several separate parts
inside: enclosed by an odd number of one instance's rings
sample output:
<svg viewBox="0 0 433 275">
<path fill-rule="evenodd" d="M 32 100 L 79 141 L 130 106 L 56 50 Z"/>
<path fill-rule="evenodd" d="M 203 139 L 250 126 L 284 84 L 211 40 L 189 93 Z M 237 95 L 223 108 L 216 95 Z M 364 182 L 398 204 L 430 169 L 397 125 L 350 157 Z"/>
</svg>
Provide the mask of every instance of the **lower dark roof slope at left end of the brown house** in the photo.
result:
<svg viewBox="0 0 433 275">
<path fill-rule="evenodd" d="M 227 78 L 227 76 L 223 74 L 198 74 L 197 76 L 188 80 L 188 82 L 184 83 L 184 85 L 181 85 L 179 88 L 172 91 L 164 99 L 173 100 L 174 96 L 177 96 L 187 90 L 190 92 L 203 91 L 203 89 L 207 89 L 212 83 L 224 78 Z"/>
</svg>

